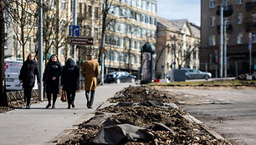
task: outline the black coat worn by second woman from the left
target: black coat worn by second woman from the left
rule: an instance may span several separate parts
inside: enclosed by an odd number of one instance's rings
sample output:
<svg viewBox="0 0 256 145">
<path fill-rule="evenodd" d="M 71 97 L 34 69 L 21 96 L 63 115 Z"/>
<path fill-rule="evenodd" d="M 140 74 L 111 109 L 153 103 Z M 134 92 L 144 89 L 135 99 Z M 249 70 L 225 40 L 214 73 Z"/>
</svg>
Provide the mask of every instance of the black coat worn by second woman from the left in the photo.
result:
<svg viewBox="0 0 256 145">
<path fill-rule="evenodd" d="M 46 83 L 46 92 L 47 93 L 59 93 L 60 87 L 60 75 L 62 71 L 62 66 L 59 62 L 48 62 L 47 66 L 44 69 L 43 81 Z M 56 77 L 53 81 L 52 78 Z"/>
</svg>

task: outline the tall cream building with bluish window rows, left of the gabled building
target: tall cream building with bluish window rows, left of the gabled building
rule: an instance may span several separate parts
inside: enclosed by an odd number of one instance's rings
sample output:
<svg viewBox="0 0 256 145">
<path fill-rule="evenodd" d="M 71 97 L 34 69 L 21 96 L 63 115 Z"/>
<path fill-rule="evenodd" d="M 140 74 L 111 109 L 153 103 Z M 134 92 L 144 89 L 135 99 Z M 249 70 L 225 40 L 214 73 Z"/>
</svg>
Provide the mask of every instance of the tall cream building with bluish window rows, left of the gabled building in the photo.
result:
<svg viewBox="0 0 256 145">
<path fill-rule="evenodd" d="M 105 32 L 106 72 L 127 71 L 139 76 L 141 47 L 155 43 L 156 0 L 115 0 Z"/>
</svg>

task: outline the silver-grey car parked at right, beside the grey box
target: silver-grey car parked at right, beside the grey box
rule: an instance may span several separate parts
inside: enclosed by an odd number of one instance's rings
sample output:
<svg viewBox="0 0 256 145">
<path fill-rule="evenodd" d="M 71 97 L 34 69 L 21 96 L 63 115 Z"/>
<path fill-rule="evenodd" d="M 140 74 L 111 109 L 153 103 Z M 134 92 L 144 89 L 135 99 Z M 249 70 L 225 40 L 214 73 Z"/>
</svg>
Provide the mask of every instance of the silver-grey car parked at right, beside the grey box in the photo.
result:
<svg viewBox="0 0 256 145">
<path fill-rule="evenodd" d="M 186 79 L 208 79 L 212 77 L 211 72 L 201 72 L 197 69 L 193 68 L 183 68 L 183 70 L 186 70 Z"/>
</svg>

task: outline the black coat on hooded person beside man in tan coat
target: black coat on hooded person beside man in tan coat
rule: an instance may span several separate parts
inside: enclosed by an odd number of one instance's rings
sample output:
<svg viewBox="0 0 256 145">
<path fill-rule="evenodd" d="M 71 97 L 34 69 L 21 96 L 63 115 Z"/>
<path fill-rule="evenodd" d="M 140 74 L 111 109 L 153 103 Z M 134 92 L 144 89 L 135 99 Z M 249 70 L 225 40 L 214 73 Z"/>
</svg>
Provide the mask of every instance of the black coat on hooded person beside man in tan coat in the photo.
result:
<svg viewBox="0 0 256 145">
<path fill-rule="evenodd" d="M 79 68 L 74 60 L 69 59 L 62 70 L 61 84 L 64 85 L 66 92 L 75 92 L 78 86 Z"/>
</svg>

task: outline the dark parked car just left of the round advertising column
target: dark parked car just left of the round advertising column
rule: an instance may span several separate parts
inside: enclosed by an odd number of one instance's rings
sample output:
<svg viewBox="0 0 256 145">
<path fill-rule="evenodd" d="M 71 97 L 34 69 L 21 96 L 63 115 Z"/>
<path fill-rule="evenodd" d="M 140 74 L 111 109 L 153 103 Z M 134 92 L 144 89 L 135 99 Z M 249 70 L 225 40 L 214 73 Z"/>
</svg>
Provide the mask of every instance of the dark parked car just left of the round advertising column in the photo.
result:
<svg viewBox="0 0 256 145">
<path fill-rule="evenodd" d="M 128 72 L 111 72 L 105 77 L 106 82 L 136 82 L 136 76 L 131 75 Z"/>
</svg>

